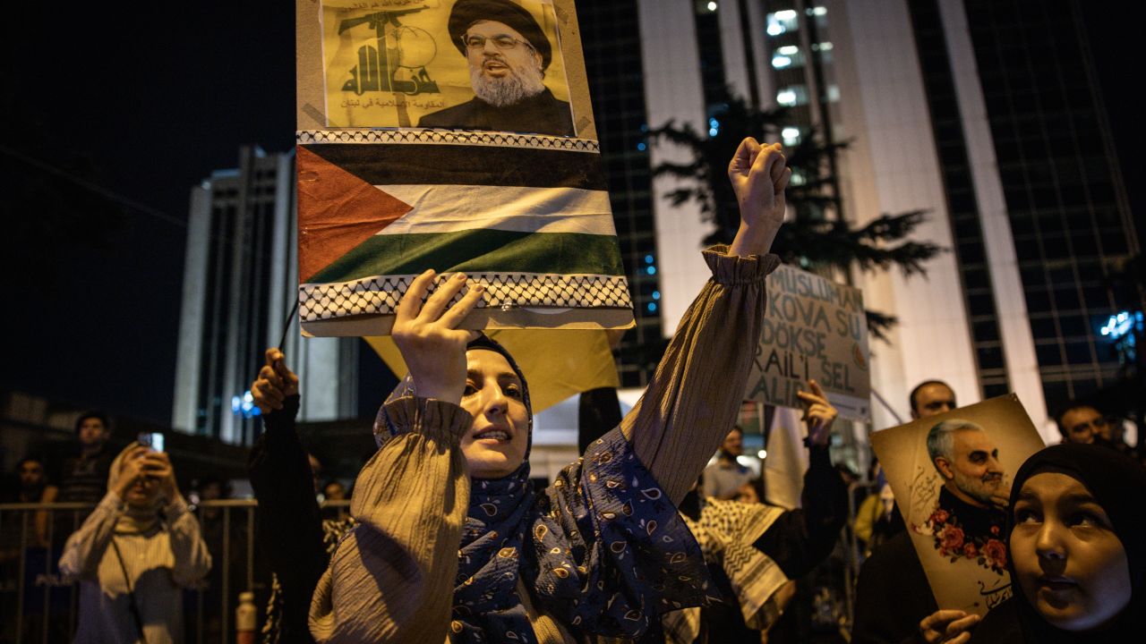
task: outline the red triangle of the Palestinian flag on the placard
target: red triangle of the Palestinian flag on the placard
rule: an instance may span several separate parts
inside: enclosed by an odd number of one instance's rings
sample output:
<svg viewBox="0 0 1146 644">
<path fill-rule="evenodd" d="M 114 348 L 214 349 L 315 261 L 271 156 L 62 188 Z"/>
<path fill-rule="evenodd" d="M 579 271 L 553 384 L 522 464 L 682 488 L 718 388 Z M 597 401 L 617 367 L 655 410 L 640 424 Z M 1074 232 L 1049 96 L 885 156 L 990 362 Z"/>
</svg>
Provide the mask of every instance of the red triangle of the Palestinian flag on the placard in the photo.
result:
<svg viewBox="0 0 1146 644">
<path fill-rule="evenodd" d="M 299 282 L 414 210 L 303 146 L 296 163 Z"/>
</svg>

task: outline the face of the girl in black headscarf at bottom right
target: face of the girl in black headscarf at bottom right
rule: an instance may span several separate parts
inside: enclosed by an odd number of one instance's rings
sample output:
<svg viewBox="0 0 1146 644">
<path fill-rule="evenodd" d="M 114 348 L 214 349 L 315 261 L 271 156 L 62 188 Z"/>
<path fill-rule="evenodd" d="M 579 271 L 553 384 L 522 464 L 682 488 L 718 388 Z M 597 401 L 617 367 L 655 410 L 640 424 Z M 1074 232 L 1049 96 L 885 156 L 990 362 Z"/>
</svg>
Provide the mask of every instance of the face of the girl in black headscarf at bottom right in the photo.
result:
<svg viewBox="0 0 1146 644">
<path fill-rule="evenodd" d="M 1089 630 L 1130 604 L 1127 551 L 1085 486 L 1059 472 L 1035 474 L 1012 511 L 1018 583 L 1044 620 L 1063 630 Z"/>
</svg>

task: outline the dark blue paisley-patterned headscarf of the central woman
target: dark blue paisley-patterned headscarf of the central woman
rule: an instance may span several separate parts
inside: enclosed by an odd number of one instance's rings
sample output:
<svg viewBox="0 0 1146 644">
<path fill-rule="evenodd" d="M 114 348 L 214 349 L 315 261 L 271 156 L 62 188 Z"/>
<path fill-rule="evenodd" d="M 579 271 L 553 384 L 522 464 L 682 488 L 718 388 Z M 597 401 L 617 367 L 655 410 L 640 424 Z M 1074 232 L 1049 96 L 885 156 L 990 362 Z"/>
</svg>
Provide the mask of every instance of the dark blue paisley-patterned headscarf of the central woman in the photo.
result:
<svg viewBox="0 0 1146 644">
<path fill-rule="evenodd" d="M 521 379 L 532 446 L 529 390 L 517 362 L 485 336 L 469 348 L 500 353 Z M 407 377 L 387 402 L 409 393 Z M 385 408 L 375 433 L 379 441 L 397 433 Z M 508 477 L 472 481 L 450 639 L 536 642 L 519 580 L 562 626 L 629 638 L 660 613 L 705 603 L 708 587 L 699 545 L 619 427 L 541 494 L 527 458 Z"/>
</svg>

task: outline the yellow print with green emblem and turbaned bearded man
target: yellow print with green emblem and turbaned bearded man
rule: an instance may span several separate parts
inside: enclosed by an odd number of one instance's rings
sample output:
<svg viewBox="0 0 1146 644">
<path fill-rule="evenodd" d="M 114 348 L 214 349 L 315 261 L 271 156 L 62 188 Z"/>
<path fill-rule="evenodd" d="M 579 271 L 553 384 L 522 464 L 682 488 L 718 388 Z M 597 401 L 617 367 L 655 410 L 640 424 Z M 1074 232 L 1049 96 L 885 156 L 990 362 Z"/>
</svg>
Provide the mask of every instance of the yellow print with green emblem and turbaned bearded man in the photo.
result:
<svg viewBox="0 0 1146 644">
<path fill-rule="evenodd" d="M 322 0 L 327 127 L 576 136 L 583 80 L 548 0 Z M 564 11 L 563 11 L 564 13 Z M 570 16 L 562 23 L 566 28 Z M 572 94 L 578 93 L 573 87 Z M 581 93 L 588 96 L 587 93 Z"/>
</svg>

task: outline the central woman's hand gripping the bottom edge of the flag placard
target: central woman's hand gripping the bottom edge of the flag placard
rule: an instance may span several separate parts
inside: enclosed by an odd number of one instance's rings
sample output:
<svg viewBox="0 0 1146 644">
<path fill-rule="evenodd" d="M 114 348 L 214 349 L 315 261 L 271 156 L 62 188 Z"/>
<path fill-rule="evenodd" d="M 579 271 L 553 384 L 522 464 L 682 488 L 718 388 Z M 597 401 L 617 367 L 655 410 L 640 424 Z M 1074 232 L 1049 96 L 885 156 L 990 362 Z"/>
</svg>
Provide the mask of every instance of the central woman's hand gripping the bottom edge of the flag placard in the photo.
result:
<svg viewBox="0 0 1146 644">
<path fill-rule="evenodd" d="M 455 273 L 423 304 L 435 276 L 430 269 L 414 278 L 398 303 L 391 335 L 410 369 L 414 393 L 457 405 L 465 391 L 465 345 L 473 338 L 457 325 L 478 304 L 485 286 L 471 286 L 448 306 L 465 286 L 465 274 Z"/>
</svg>

